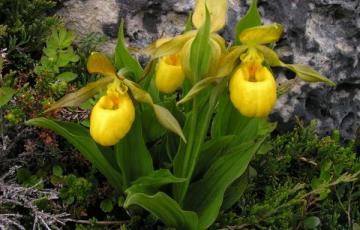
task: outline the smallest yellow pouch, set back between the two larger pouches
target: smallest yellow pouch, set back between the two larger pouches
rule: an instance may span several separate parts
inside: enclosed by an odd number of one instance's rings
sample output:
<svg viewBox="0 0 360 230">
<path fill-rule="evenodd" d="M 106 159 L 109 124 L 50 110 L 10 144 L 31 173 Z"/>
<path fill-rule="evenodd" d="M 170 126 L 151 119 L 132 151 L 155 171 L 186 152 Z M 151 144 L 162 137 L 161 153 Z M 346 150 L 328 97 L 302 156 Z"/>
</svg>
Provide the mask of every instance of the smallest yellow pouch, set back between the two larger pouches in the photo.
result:
<svg viewBox="0 0 360 230">
<path fill-rule="evenodd" d="M 178 55 L 169 55 L 159 59 L 155 85 L 160 92 L 173 93 L 182 85 L 184 79 L 185 74 Z"/>
</svg>

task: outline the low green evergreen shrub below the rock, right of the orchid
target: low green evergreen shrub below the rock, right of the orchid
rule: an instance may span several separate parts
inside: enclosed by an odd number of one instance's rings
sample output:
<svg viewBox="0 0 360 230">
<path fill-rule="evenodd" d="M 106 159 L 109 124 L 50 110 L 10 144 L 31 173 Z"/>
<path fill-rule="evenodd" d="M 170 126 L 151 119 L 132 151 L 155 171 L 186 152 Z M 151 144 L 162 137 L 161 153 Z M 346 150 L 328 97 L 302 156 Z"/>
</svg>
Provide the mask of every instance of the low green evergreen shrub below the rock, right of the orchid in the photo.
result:
<svg viewBox="0 0 360 230">
<path fill-rule="evenodd" d="M 360 170 L 354 142 L 342 145 L 337 131 L 320 138 L 315 127 L 299 123 L 270 141 L 272 150 L 252 162 L 257 173 L 242 200 L 216 227 L 309 228 L 319 219 L 322 229 L 349 229 L 359 223 L 360 182 L 348 175 Z"/>
</svg>

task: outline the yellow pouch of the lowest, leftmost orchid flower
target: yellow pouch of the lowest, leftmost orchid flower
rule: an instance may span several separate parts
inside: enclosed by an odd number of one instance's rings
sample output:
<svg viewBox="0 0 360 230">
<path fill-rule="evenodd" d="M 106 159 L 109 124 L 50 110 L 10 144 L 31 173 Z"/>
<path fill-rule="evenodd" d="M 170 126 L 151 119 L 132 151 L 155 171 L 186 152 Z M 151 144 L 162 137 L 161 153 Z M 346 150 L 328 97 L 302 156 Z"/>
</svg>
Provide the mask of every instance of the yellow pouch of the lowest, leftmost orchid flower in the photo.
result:
<svg viewBox="0 0 360 230">
<path fill-rule="evenodd" d="M 130 130 L 135 108 L 128 94 L 105 95 L 90 116 L 90 135 L 100 145 L 115 145 Z"/>
</svg>

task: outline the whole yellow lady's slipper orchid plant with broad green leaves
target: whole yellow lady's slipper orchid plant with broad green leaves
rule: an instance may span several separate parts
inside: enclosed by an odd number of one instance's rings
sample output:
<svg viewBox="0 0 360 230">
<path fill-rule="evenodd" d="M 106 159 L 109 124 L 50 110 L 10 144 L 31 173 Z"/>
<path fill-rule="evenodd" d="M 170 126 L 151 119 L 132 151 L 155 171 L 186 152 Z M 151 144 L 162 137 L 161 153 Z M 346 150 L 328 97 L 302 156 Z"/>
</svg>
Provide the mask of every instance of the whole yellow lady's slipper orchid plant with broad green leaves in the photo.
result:
<svg viewBox="0 0 360 230">
<path fill-rule="evenodd" d="M 49 109 L 79 106 L 100 95 L 81 124 L 36 118 L 73 144 L 126 196 L 176 229 L 206 229 L 244 192 L 249 163 L 276 124 L 267 117 L 293 81 L 278 86 L 271 67 L 307 82 L 332 81 L 312 68 L 283 63 L 272 49 L 280 24 L 262 25 L 254 0 L 237 24 L 235 45 L 217 34 L 226 0 L 197 0 L 183 34 L 144 49 L 145 69 L 124 45 L 123 23 L 114 58 L 94 52 L 89 73 L 103 76 Z M 168 132 L 170 131 L 170 132 Z"/>
</svg>

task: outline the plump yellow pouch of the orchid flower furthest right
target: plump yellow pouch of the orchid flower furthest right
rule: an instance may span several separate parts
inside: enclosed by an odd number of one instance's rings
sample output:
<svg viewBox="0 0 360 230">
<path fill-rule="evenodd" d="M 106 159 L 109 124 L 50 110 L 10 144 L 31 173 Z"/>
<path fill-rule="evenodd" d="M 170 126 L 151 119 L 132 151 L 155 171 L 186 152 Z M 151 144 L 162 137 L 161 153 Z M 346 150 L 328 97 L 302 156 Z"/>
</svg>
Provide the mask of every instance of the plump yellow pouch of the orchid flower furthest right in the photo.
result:
<svg viewBox="0 0 360 230">
<path fill-rule="evenodd" d="M 230 99 L 236 109 L 247 117 L 266 117 L 276 102 L 276 82 L 266 67 L 250 76 L 246 67 L 240 67 L 229 84 Z"/>
</svg>

